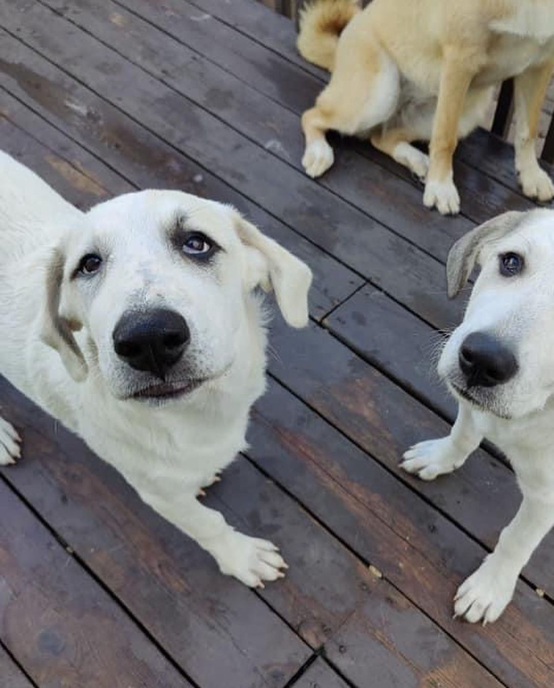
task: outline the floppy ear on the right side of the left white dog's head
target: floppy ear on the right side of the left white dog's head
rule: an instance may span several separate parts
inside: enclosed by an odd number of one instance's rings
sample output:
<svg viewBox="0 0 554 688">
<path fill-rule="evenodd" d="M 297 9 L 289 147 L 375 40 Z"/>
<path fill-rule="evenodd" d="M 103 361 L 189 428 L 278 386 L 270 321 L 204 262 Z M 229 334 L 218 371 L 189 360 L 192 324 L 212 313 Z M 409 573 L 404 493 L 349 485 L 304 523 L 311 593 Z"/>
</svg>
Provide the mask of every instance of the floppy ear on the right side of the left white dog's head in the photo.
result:
<svg viewBox="0 0 554 688">
<path fill-rule="evenodd" d="M 279 310 L 291 327 L 308 324 L 308 290 L 312 271 L 288 250 L 266 237 L 240 213 L 233 211 L 235 228 L 242 243 L 257 252 L 251 287 L 261 286 L 266 292 L 272 288 Z"/>
</svg>

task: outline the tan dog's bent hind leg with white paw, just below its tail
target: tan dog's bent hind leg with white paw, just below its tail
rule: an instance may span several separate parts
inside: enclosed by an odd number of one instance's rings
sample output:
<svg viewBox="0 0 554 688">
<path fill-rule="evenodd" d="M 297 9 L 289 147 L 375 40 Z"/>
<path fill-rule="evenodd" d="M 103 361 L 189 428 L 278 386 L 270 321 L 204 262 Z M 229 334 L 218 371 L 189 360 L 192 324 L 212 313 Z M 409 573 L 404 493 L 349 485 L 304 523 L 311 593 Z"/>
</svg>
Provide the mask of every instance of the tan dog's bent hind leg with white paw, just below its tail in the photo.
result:
<svg viewBox="0 0 554 688">
<path fill-rule="evenodd" d="M 352 24 L 356 21 L 352 20 Z M 349 35 L 346 36 L 346 32 Z M 302 165 L 310 177 L 319 177 L 333 164 L 325 134 L 329 129 L 353 135 L 380 125 L 392 116 L 400 92 L 398 67 L 376 39 L 345 29 L 329 85 L 315 107 L 302 115 L 306 151 Z M 352 63 L 353 56 L 359 55 Z"/>
</svg>

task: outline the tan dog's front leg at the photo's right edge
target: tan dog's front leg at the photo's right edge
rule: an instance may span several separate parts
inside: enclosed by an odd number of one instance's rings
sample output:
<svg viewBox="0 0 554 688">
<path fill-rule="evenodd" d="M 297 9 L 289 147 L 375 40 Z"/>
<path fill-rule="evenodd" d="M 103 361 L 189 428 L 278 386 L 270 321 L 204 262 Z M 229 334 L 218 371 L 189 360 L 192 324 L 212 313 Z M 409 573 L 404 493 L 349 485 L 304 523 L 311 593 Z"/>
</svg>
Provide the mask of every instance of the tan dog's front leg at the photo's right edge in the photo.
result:
<svg viewBox="0 0 554 688">
<path fill-rule="evenodd" d="M 549 61 L 544 65 L 529 67 L 514 79 L 515 169 L 523 193 L 540 201 L 549 201 L 554 195 L 554 185 L 540 168 L 535 150 L 540 111 L 553 68 L 554 61 Z"/>
</svg>

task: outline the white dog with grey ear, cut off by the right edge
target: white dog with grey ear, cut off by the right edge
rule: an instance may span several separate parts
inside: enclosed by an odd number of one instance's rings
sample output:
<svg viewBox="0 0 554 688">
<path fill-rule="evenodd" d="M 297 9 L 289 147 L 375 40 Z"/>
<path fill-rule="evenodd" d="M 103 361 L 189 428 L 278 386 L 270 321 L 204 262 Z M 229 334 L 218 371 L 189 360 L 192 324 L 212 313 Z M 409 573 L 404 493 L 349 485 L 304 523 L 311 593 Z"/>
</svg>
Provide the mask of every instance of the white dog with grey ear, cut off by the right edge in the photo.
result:
<svg viewBox="0 0 554 688">
<path fill-rule="evenodd" d="M 480 275 L 438 372 L 459 401 L 447 438 L 420 442 L 403 468 L 424 480 L 461 466 L 483 438 L 507 455 L 523 493 L 513 521 L 458 588 L 454 610 L 496 621 L 533 550 L 554 525 L 554 212 L 504 213 L 451 249 L 449 296 Z"/>
</svg>

